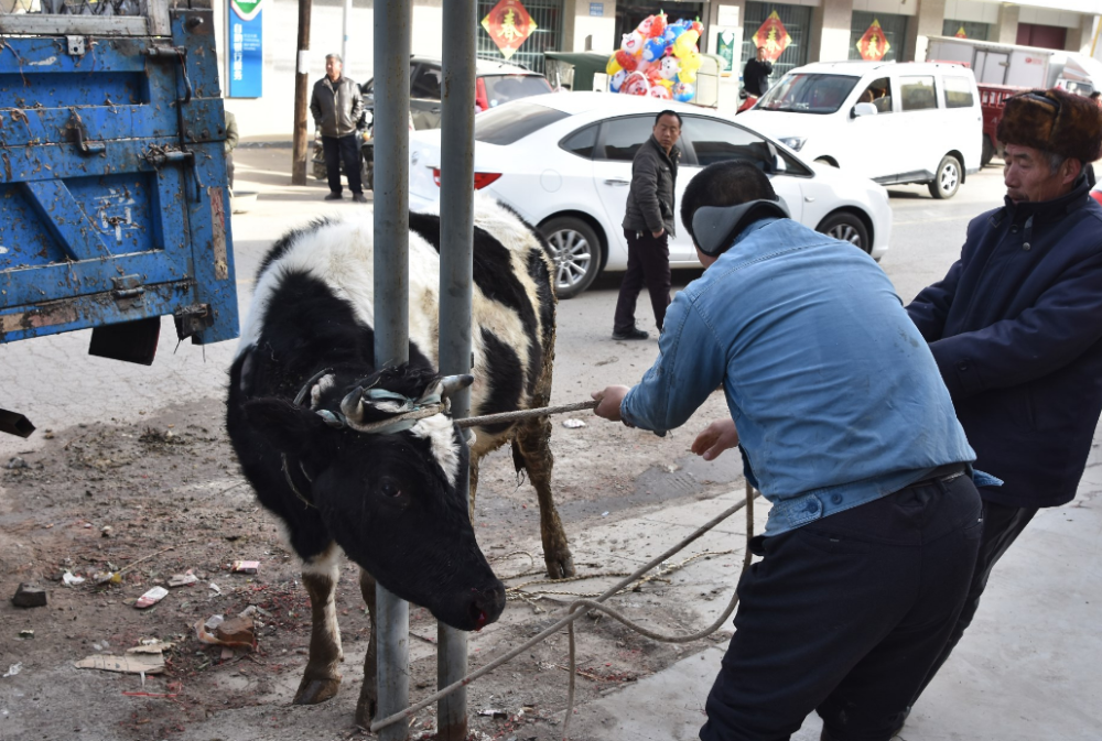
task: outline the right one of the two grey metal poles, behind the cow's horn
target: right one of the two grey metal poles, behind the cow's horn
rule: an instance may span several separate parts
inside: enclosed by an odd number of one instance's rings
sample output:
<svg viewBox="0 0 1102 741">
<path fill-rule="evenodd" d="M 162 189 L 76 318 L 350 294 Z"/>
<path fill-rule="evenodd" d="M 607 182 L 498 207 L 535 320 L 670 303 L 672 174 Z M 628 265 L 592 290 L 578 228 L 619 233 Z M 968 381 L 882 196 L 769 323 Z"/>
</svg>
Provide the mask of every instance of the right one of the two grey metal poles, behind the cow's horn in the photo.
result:
<svg viewBox="0 0 1102 741">
<path fill-rule="evenodd" d="M 449 0 L 443 7 L 443 101 L 440 154 L 440 371 L 471 370 L 474 255 L 475 30 L 476 0 Z M 471 413 L 471 390 L 452 399 L 452 416 Z M 468 479 L 457 482 L 464 498 Z M 467 673 L 467 635 L 437 623 L 436 687 Z M 466 689 L 436 705 L 436 738 L 467 738 Z"/>
</svg>

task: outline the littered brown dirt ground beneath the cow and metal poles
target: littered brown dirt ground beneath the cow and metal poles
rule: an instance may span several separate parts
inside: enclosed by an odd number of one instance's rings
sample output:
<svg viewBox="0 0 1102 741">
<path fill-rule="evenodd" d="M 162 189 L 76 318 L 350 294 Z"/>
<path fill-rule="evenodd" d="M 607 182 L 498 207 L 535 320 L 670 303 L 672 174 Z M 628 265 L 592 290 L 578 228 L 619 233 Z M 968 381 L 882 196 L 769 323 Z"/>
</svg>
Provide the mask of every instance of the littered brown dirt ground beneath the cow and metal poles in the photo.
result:
<svg viewBox="0 0 1102 741">
<path fill-rule="evenodd" d="M 702 419 L 723 411 L 714 395 Z M 223 429 L 223 406 L 208 400 L 150 415 L 140 424 L 106 421 L 45 431 L 44 444 L 0 460 L 0 739 L 345 739 L 353 724 L 369 620 L 357 569 L 346 564 L 337 590 L 344 641 L 344 685 L 323 706 L 291 706 L 306 661 L 310 607 L 299 563 L 241 478 Z M 672 498 L 706 499 L 732 488 L 737 461 L 707 469 L 689 460 L 688 432 L 658 438 L 599 419 L 580 429 L 555 423 L 554 486 L 568 534 Z M 684 429 L 695 429 L 688 426 Z M 534 492 L 518 486 L 511 460 L 498 451 L 483 464 L 476 530 L 503 577 L 541 566 Z M 575 554 L 576 556 L 576 554 Z M 260 562 L 253 575 L 230 573 L 237 559 Z M 599 557 L 576 559 L 582 574 L 601 573 Z M 132 565 L 132 566 L 131 566 Z M 96 575 L 120 571 L 118 584 Z M 187 570 L 192 586 L 174 588 L 154 607 L 134 601 Z M 64 575 L 83 578 L 67 585 Z M 509 580 L 517 585 L 538 577 Z M 48 604 L 17 608 L 7 599 L 20 582 L 44 587 Z M 217 586 L 217 589 L 215 588 Z M 648 590 L 661 585 L 647 585 Z M 533 587 L 532 589 L 538 589 Z M 584 584 L 579 589 L 584 591 Z M 562 600 L 562 601 L 557 601 Z M 627 614 L 666 630 L 700 624 L 677 606 Z M 568 598 L 510 601 L 503 620 L 472 640 L 471 668 L 500 655 L 551 622 Z M 256 649 L 201 643 L 194 625 L 255 607 Z M 412 699 L 435 688 L 435 624 L 411 611 Z M 701 646 L 641 639 L 609 620 L 583 619 L 579 638 L 579 702 L 613 693 Z M 25 631 L 33 631 L 33 636 Z M 75 668 L 93 655 L 119 655 L 143 639 L 173 646 L 161 675 Z M 716 640 L 724 640 L 720 635 Z M 563 631 L 527 656 L 468 688 L 471 728 L 478 738 L 559 738 L 566 700 Z M 484 713 L 484 715 L 480 715 Z M 411 738 L 431 733 L 434 710 L 421 712 Z"/>
</svg>

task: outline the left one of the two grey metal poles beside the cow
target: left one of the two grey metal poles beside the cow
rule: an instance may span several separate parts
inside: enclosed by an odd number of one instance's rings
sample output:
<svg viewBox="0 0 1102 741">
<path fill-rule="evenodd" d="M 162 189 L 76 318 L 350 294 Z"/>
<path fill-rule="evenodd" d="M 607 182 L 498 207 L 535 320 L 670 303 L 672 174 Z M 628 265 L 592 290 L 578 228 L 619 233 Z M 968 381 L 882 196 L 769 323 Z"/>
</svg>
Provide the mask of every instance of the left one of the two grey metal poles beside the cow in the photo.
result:
<svg viewBox="0 0 1102 741">
<path fill-rule="evenodd" d="M 411 0 L 375 3 L 375 362 L 409 360 L 409 103 Z M 409 705 L 409 604 L 381 585 L 378 607 L 381 716 Z M 380 741 L 404 741 L 395 723 Z"/>
</svg>

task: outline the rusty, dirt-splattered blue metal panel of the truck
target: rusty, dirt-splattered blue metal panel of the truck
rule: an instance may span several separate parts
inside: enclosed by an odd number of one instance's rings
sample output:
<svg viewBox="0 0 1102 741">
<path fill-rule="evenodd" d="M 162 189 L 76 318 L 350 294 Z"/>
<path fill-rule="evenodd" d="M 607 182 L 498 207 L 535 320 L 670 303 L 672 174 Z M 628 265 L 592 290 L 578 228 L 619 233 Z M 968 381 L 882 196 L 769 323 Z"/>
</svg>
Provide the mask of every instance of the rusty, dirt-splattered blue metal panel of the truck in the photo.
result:
<svg viewBox="0 0 1102 741">
<path fill-rule="evenodd" d="M 185 308 L 193 341 L 237 336 L 212 13 L 171 29 L 4 39 L 0 342 Z"/>
</svg>

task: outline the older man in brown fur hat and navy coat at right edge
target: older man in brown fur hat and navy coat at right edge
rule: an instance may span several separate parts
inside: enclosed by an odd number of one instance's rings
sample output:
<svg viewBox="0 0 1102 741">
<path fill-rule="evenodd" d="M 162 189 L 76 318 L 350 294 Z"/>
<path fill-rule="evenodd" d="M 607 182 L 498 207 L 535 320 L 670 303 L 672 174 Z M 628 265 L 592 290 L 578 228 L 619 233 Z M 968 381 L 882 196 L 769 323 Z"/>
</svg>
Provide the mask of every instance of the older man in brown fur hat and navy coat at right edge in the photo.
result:
<svg viewBox="0 0 1102 741">
<path fill-rule="evenodd" d="M 1102 411 L 1102 206 L 1088 196 L 1102 111 L 1062 90 L 1024 92 L 1006 101 L 997 135 L 1005 205 L 972 220 L 960 260 L 907 307 L 975 467 L 1005 482 L 980 489 L 984 533 L 969 598 L 927 683 L 1038 508 L 1074 498 Z"/>
</svg>

